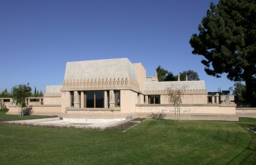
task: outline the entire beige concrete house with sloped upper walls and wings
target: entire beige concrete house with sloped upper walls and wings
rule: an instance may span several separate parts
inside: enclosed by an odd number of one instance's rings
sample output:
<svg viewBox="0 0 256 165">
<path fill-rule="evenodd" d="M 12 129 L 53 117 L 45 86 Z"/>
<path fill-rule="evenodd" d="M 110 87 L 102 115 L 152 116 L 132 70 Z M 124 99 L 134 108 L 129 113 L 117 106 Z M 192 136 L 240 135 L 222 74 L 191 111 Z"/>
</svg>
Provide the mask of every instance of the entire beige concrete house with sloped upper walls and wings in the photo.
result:
<svg viewBox="0 0 256 165">
<path fill-rule="evenodd" d="M 34 114 L 57 114 L 68 119 L 147 117 L 164 112 L 174 118 L 167 87 L 182 89 L 182 120 L 238 120 L 234 103 L 209 103 L 204 81 L 159 82 L 146 77 L 141 63 L 128 59 L 67 62 L 63 85 L 46 87 L 43 105 Z M 218 95 L 211 95 L 217 100 Z M 220 101 L 221 102 L 221 101 Z M 10 105 L 9 114 L 17 107 Z"/>
</svg>

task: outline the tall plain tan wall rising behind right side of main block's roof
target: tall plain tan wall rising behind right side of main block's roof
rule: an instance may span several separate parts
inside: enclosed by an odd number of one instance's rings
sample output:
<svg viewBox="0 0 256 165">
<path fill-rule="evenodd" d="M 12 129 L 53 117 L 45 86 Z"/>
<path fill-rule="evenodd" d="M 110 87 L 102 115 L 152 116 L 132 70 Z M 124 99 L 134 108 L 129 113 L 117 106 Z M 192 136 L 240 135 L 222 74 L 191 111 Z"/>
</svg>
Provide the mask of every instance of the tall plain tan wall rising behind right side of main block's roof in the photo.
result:
<svg viewBox="0 0 256 165">
<path fill-rule="evenodd" d="M 140 83 L 140 91 L 145 90 L 145 82 L 146 82 L 146 70 L 141 63 L 133 64 L 137 70 L 137 78 L 138 82 Z"/>
</svg>

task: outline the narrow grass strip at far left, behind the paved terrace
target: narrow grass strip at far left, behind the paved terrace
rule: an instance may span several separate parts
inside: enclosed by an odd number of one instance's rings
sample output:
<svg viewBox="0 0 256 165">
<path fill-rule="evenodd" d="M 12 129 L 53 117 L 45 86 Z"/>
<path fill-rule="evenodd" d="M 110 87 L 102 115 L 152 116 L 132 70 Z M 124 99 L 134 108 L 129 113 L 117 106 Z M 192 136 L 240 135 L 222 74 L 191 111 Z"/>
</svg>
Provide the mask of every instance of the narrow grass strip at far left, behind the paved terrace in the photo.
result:
<svg viewBox="0 0 256 165">
<path fill-rule="evenodd" d="M 57 116 L 38 116 L 38 115 L 24 115 L 22 118 L 18 117 L 18 114 L 5 114 L 5 112 L 0 112 L 0 122 L 12 121 L 12 120 L 30 120 L 39 118 L 53 118 Z"/>
</svg>

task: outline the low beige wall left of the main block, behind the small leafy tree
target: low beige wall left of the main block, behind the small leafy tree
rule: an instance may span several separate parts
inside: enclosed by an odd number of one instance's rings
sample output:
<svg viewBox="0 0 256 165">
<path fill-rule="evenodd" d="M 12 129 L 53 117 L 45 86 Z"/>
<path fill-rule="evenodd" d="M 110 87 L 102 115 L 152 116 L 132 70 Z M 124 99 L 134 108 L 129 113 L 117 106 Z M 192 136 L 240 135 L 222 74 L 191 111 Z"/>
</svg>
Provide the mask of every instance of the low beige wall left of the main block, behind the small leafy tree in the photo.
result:
<svg viewBox="0 0 256 165">
<path fill-rule="evenodd" d="M 32 110 L 32 115 L 59 115 L 61 113 L 61 105 L 32 105 Z M 18 114 L 18 107 L 9 105 L 9 112 L 6 114 Z"/>
</svg>

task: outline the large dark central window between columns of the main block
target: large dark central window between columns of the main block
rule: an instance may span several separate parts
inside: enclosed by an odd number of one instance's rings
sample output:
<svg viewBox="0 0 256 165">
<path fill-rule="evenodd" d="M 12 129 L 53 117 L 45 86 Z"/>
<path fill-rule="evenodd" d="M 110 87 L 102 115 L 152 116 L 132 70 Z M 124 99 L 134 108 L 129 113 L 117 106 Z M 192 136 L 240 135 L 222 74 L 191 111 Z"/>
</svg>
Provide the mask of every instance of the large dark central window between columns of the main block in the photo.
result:
<svg viewBox="0 0 256 165">
<path fill-rule="evenodd" d="M 104 108 L 104 91 L 87 91 L 86 108 Z"/>
</svg>

